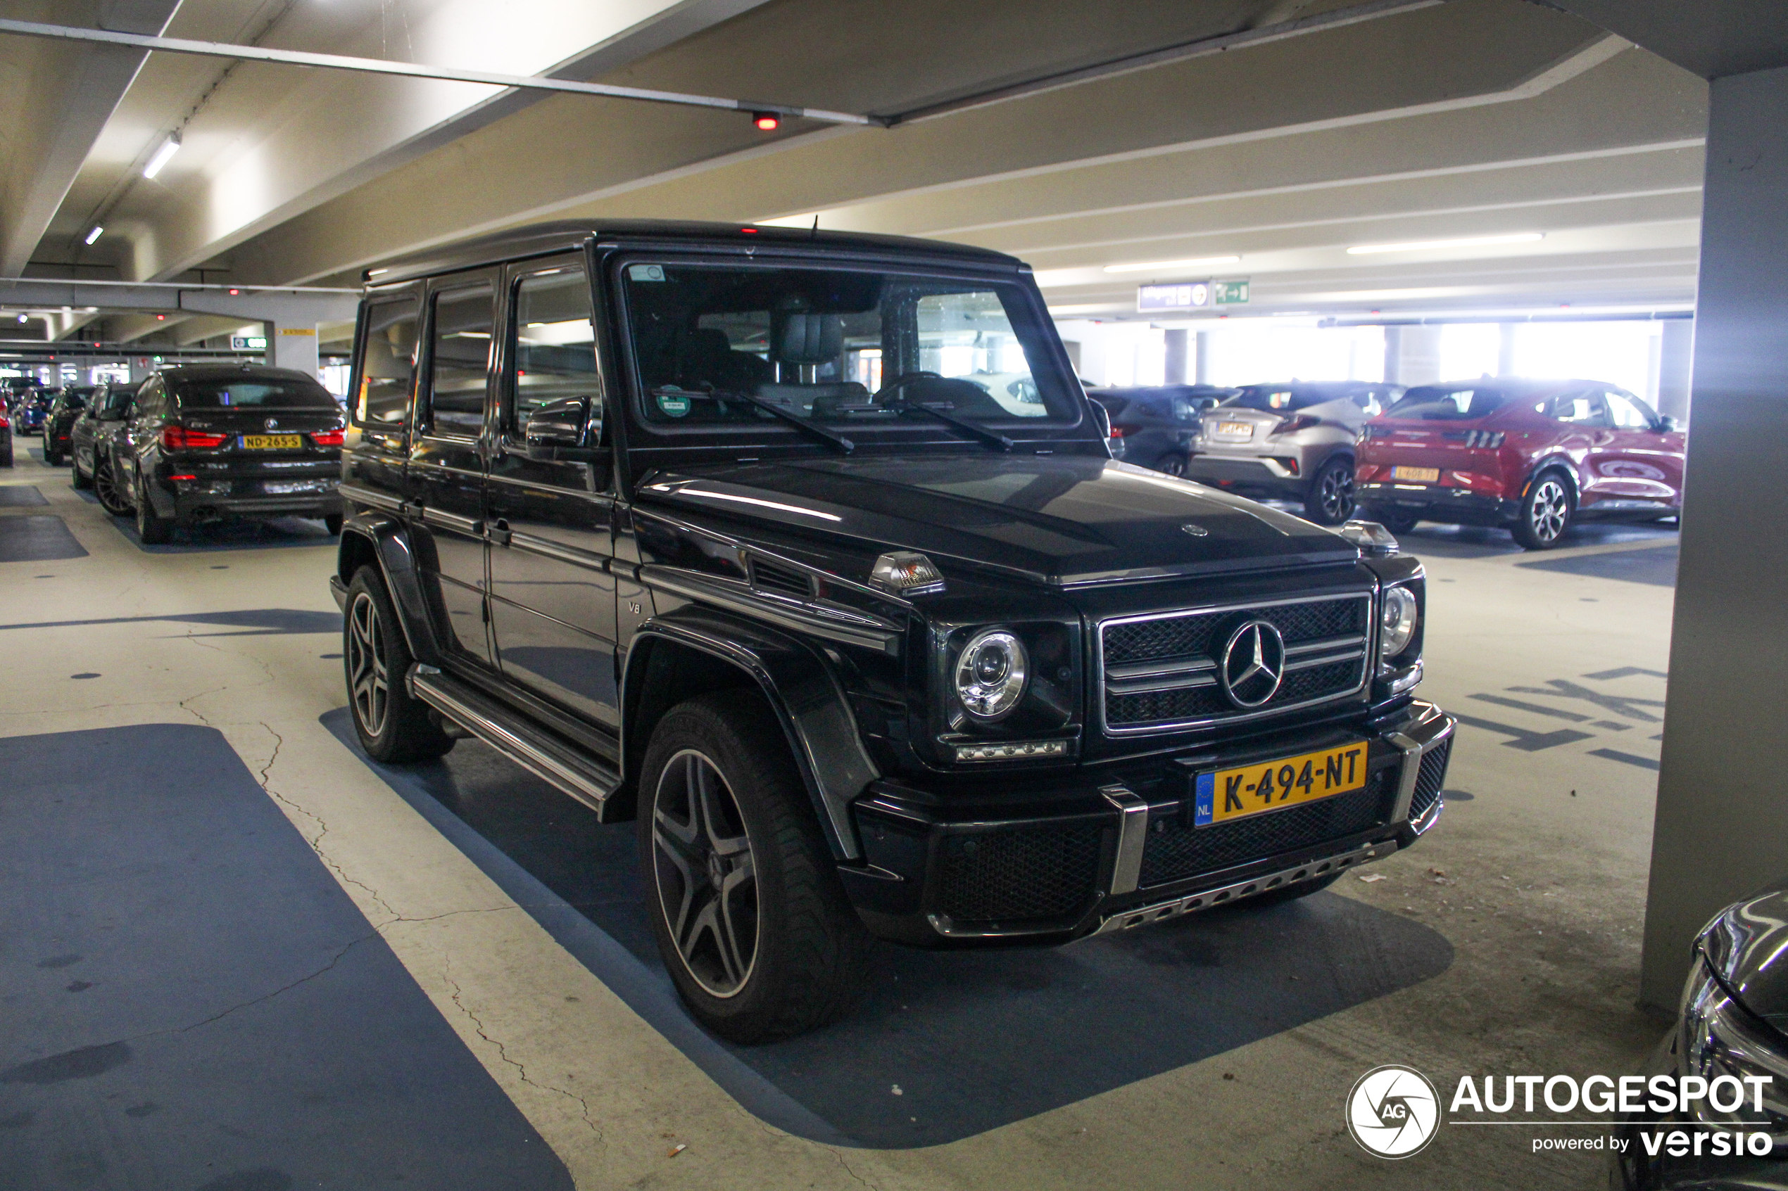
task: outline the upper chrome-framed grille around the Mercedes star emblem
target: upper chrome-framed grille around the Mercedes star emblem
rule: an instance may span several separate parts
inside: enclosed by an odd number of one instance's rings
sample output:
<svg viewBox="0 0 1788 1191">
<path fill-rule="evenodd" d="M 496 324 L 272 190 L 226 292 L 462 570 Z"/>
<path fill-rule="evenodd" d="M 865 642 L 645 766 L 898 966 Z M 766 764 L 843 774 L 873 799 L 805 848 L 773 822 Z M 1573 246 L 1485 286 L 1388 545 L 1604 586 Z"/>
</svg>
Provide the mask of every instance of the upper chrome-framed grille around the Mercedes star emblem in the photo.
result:
<svg viewBox="0 0 1788 1191">
<path fill-rule="evenodd" d="M 1100 648 L 1107 671 L 1105 727 L 1119 732 L 1168 730 L 1243 714 L 1266 714 L 1298 704 L 1350 695 L 1366 682 L 1368 614 L 1371 598 L 1366 595 L 1334 600 L 1307 600 L 1302 604 L 1269 604 L 1262 607 L 1227 607 L 1209 612 L 1166 614 L 1150 620 L 1107 623 L 1100 627 Z M 1323 661 L 1327 650 L 1307 661 L 1320 664 L 1289 670 L 1278 689 L 1261 707 L 1239 709 L 1230 704 L 1216 682 L 1218 652 L 1246 620 L 1266 620 L 1286 639 L 1287 662 L 1298 661 L 1300 645 L 1318 641 L 1345 641 L 1337 646 L 1339 661 Z M 1350 655 L 1348 655 L 1350 654 Z M 1125 691 L 1121 680 L 1109 675 L 1114 666 L 1146 668 L 1148 664 L 1203 666 L 1185 673 L 1184 684 L 1168 689 Z M 1159 682 L 1155 686 L 1160 686 Z"/>
</svg>

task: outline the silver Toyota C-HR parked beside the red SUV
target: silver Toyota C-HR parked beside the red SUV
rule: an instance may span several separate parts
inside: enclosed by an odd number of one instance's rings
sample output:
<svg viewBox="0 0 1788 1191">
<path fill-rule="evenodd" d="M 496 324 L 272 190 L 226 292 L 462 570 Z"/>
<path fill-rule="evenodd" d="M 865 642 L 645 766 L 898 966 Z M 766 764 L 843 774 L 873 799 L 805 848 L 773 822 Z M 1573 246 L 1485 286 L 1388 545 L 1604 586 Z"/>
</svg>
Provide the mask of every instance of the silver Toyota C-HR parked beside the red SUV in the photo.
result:
<svg viewBox="0 0 1788 1191">
<path fill-rule="evenodd" d="M 1185 479 L 1243 496 L 1302 500 L 1320 525 L 1354 516 L 1354 437 L 1398 384 L 1250 384 L 1203 414 Z"/>
</svg>

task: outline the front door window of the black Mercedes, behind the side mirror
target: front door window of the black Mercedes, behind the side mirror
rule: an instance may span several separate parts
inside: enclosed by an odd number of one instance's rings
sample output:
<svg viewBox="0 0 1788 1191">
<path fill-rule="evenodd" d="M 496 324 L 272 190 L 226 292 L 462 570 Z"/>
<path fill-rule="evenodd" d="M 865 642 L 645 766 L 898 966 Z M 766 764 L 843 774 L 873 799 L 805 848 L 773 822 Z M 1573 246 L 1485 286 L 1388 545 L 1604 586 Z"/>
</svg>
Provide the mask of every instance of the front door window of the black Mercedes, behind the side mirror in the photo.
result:
<svg viewBox="0 0 1788 1191">
<path fill-rule="evenodd" d="M 588 396 L 601 411 L 595 375 L 595 325 L 590 312 L 590 282 L 581 266 L 533 273 L 515 284 L 513 370 L 504 384 L 510 395 L 504 434 L 520 441 L 527 420 L 544 404 L 563 396 Z"/>
</svg>

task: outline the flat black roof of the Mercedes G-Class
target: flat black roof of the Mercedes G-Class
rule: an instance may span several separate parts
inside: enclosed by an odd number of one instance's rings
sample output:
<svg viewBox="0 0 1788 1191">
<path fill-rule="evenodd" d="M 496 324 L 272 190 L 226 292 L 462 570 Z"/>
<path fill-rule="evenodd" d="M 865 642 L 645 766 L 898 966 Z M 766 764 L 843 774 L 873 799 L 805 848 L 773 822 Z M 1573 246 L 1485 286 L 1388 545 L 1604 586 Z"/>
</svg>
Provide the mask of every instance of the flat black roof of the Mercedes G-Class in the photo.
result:
<svg viewBox="0 0 1788 1191">
<path fill-rule="evenodd" d="M 388 286 L 392 282 L 413 280 L 433 273 L 477 268 L 497 261 L 565 252 L 588 239 L 615 241 L 628 245 L 663 245 L 687 248 L 703 245 L 708 248 L 746 252 L 805 252 L 812 248 L 830 248 L 853 257 L 921 257 L 932 261 L 955 261 L 958 264 L 980 264 L 996 268 L 1025 268 L 1017 257 L 991 248 L 971 245 L 951 245 L 940 239 L 917 239 L 914 236 L 873 236 L 869 232 L 828 232 L 805 227 L 772 227 L 753 223 L 696 223 L 690 220 L 592 220 L 533 223 L 527 227 L 493 232 L 461 239 L 452 245 L 429 248 L 427 252 L 397 257 L 386 264 L 365 270 L 361 279 L 368 284 Z"/>
</svg>

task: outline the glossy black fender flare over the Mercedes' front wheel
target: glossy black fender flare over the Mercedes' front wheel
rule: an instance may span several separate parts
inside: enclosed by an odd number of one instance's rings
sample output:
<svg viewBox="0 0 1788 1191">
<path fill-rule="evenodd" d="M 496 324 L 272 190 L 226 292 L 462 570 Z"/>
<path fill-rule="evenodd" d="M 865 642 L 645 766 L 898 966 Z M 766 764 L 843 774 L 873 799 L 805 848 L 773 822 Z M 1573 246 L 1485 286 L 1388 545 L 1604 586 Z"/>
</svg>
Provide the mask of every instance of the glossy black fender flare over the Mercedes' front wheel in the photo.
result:
<svg viewBox="0 0 1788 1191">
<path fill-rule="evenodd" d="M 824 654 L 740 616 L 681 607 L 647 620 L 628 646 L 620 679 L 620 766 L 638 787 L 645 741 L 635 739 L 647 668 L 660 643 L 706 654 L 744 671 L 763 691 L 789 737 L 801 782 L 837 861 L 858 861 L 851 802 L 881 777 L 864 750 L 844 686 Z"/>
</svg>

